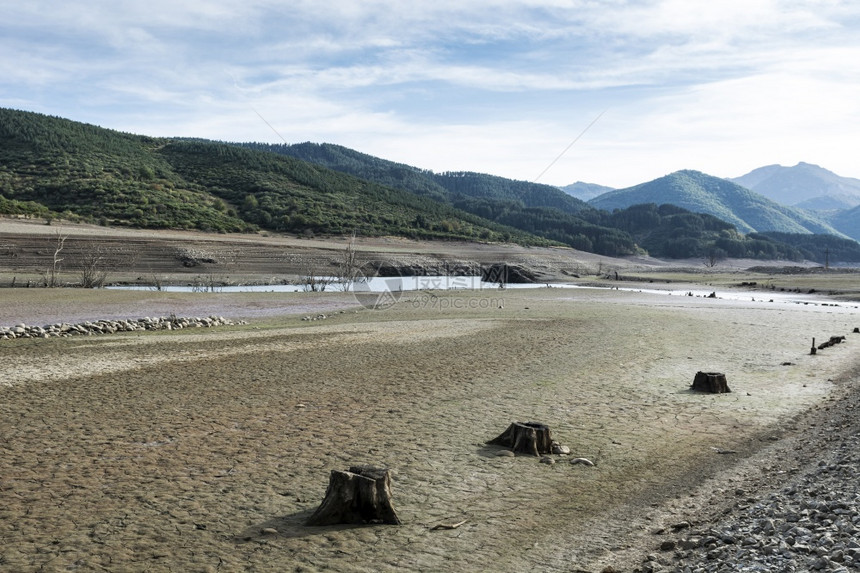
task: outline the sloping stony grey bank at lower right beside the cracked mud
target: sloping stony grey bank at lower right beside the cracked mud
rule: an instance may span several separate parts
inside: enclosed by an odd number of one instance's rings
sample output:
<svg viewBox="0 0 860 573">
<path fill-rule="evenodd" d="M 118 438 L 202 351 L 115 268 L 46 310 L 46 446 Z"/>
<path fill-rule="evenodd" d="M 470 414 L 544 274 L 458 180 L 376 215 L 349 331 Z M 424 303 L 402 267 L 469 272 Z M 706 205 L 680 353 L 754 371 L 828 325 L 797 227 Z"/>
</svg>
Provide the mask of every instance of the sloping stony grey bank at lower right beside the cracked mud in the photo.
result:
<svg viewBox="0 0 860 573">
<path fill-rule="evenodd" d="M 634 571 L 860 571 L 858 412 L 855 389 L 815 413 L 797 450 L 783 456 L 798 465 L 758 493 L 726 490 L 739 501 L 710 521 L 655 531 L 659 551 Z"/>
</svg>

